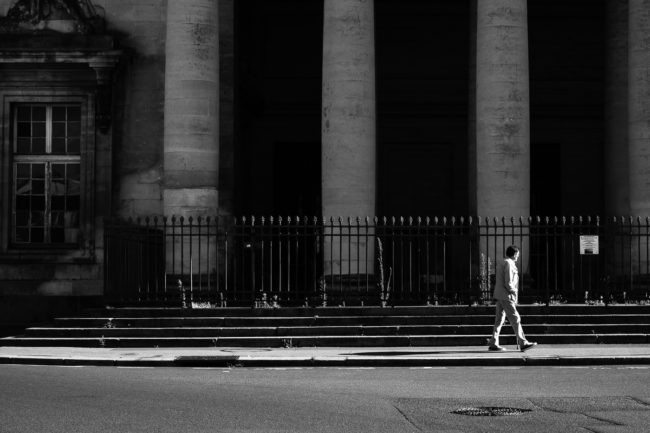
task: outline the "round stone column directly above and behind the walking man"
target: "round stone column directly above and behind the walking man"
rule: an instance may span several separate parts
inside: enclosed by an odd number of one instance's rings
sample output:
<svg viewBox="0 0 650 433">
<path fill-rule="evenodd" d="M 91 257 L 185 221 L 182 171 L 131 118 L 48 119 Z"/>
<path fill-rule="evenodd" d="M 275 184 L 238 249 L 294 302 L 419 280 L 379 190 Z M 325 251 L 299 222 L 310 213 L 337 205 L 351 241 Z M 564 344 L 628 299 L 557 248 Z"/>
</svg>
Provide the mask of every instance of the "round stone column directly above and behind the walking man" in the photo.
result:
<svg viewBox="0 0 650 433">
<path fill-rule="evenodd" d="M 510 217 L 515 217 L 518 222 L 520 216 L 530 214 L 527 3 L 478 0 L 472 10 L 474 7 L 476 87 L 470 97 L 474 112 L 469 117 L 475 122 L 470 125 L 475 137 L 470 137 L 468 149 L 470 206 L 483 219 L 506 217 L 509 223 Z M 505 255 L 502 246 L 497 242 L 495 253 L 494 244 L 485 244 L 481 251 L 486 252 L 486 260 L 498 261 Z M 519 247 L 526 272 L 527 242 Z"/>
</svg>

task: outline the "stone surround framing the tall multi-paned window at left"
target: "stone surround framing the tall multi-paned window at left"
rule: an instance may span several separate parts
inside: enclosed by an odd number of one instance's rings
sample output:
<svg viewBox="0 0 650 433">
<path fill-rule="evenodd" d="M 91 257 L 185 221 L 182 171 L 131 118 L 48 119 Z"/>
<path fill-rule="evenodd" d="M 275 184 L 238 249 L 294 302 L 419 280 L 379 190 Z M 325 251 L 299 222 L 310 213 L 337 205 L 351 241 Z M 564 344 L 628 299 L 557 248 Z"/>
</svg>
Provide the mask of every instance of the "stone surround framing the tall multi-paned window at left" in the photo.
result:
<svg viewBox="0 0 650 433">
<path fill-rule="evenodd" d="M 0 260 L 24 260 L 30 256 L 47 261 L 78 261 L 94 259 L 94 184 L 95 184 L 95 96 L 94 92 L 73 89 L 50 91 L 22 91 L 0 93 L 2 97 L 2 152 L 0 169 Z M 80 206 L 79 234 L 75 244 L 14 243 L 14 137 L 15 112 L 20 105 L 78 105 L 81 109 L 81 134 L 79 146 Z M 54 155 L 52 155 L 54 156 Z M 70 159 L 71 155 L 61 155 Z M 57 157 L 59 157 L 57 155 Z M 24 156 L 19 159 L 24 159 Z"/>
</svg>

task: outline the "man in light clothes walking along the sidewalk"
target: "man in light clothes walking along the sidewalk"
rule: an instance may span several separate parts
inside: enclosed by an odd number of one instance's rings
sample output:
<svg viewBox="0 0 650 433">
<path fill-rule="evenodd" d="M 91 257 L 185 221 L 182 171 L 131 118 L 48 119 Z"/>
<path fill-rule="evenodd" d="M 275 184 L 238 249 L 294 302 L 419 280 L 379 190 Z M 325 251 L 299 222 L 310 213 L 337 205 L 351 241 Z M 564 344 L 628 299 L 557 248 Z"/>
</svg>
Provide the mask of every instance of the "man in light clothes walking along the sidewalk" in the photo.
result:
<svg viewBox="0 0 650 433">
<path fill-rule="evenodd" d="M 499 346 L 499 334 L 501 327 L 508 318 L 512 329 L 517 337 L 519 350 L 525 352 L 532 349 L 537 343 L 526 340 L 524 330 L 521 327 L 521 316 L 517 311 L 517 298 L 519 295 L 519 271 L 517 270 L 517 259 L 519 259 L 519 248 L 514 245 L 506 249 L 506 258 L 497 269 L 496 284 L 494 285 L 494 300 L 496 302 L 496 316 L 492 337 L 488 340 L 488 350 L 499 352 L 505 350 Z"/>
</svg>

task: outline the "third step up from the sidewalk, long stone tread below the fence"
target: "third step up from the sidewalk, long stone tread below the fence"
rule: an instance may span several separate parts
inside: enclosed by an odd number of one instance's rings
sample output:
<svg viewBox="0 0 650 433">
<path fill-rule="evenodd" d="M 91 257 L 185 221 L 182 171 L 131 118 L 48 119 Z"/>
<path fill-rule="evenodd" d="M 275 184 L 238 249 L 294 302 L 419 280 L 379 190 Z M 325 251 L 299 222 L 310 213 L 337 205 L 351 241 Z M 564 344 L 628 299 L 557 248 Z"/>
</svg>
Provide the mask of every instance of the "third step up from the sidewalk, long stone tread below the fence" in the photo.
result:
<svg viewBox="0 0 650 433">
<path fill-rule="evenodd" d="M 523 316 L 525 324 L 642 324 L 644 314 L 591 314 Z M 405 325 L 492 325 L 494 314 L 472 316 L 328 316 L 328 317 L 93 317 L 57 318 L 50 327 L 269 327 L 269 326 L 405 326 Z"/>
</svg>

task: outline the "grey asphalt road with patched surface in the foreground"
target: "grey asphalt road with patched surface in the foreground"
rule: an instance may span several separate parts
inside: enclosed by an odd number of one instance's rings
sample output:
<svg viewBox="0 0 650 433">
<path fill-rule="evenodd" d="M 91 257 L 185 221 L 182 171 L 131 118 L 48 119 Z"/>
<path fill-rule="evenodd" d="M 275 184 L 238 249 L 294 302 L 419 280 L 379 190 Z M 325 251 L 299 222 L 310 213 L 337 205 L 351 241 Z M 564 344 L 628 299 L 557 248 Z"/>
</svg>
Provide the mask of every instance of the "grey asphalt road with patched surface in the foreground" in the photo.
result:
<svg viewBox="0 0 650 433">
<path fill-rule="evenodd" d="M 646 432 L 650 366 L 0 365 L 0 432 Z M 510 416 L 457 410 L 509 407 Z"/>
</svg>

